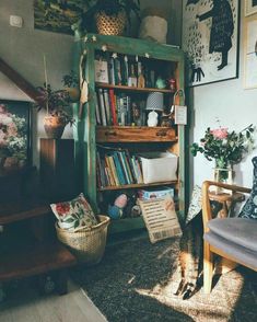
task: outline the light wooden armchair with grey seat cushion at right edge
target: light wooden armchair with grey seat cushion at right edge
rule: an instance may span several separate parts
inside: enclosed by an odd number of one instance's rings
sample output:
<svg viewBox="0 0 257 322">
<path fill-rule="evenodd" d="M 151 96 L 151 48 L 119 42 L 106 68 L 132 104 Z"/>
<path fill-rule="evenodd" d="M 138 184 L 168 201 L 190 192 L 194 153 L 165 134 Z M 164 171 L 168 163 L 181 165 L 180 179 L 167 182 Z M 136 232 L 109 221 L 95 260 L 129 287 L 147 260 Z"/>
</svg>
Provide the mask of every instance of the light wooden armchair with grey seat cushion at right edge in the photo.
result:
<svg viewBox="0 0 257 322">
<path fill-rule="evenodd" d="M 209 188 L 231 189 L 249 194 L 250 189 L 236 185 L 206 181 L 202 184 L 203 219 L 203 292 L 211 291 L 213 254 L 257 271 L 257 220 L 245 218 L 212 218 Z"/>
</svg>

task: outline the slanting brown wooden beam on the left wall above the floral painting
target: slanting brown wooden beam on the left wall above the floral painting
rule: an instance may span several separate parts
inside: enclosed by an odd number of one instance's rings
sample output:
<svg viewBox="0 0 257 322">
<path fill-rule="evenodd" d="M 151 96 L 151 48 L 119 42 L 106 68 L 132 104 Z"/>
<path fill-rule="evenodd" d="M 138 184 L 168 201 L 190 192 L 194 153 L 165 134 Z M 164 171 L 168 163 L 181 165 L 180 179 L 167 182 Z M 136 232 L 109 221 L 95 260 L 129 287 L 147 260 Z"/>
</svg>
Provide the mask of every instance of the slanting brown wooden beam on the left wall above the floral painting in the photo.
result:
<svg viewBox="0 0 257 322">
<path fill-rule="evenodd" d="M 5 74 L 14 84 L 19 87 L 27 96 L 34 101 L 38 101 L 39 93 L 28 81 L 26 81 L 19 72 L 12 69 L 1 57 L 0 57 L 0 71 Z"/>
</svg>

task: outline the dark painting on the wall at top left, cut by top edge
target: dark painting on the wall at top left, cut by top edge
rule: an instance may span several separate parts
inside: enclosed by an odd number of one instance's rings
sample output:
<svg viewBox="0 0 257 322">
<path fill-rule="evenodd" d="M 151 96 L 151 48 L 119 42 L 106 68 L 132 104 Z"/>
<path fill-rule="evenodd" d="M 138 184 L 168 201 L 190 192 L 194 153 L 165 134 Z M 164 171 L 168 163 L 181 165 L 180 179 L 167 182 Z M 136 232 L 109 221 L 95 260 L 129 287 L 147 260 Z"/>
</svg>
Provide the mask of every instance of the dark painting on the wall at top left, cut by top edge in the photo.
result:
<svg viewBox="0 0 257 322">
<path fill-rule="evenodd" d="M 34 27 L 72 35 L 84 5 L 83 0 L 34 0 Z"/>
</svg>

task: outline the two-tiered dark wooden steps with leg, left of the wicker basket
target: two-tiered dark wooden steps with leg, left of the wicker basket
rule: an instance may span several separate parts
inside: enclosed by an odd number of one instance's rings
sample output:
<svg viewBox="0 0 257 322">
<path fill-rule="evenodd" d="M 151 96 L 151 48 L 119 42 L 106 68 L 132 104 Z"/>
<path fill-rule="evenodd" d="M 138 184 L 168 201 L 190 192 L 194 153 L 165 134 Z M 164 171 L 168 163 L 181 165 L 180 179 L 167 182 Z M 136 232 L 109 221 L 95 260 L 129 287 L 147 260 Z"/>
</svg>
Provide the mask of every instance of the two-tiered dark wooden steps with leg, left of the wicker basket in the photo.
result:
<svg viewBox="0 0 257 322">
<path fill-rule="evenodd" d="M 19 199 L 0 204 L 0 226 L 9 227 L 14 222 L 48 216 L 50 207 L 46 202 Z M 30 225 L 28 225 L 30 226 Z M 31 227 L 30 227 L 31 229 Z M 32 229 L 33 230 L 33 229 Z M 4 232 L 3 232 L 4 233 Z M 55 238 L 44 238 L 44 233 L 32 233 L 34 239 L 27 243 L 5 245 L 0 251 L 0 283 L 33 275 L 59 271 L 58 292 L 67 292 L 67 267 L 77 263 L 75 257 Z M 0 234 L 1 237 L 1 234 Z M 1 243 L 1 239 L 0 239 Z"/>
</svg>

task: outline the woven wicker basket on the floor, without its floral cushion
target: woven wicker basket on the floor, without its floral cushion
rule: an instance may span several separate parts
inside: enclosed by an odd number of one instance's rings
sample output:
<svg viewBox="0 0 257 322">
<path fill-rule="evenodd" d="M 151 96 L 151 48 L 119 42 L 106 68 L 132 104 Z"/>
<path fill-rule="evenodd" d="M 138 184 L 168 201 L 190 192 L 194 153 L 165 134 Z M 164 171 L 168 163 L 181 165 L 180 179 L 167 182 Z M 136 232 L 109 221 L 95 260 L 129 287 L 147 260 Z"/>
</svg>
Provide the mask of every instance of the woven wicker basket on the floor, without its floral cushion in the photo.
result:
<svg viewBox="0 0 257 322">
<path fill-rule="evenodd" d="M 98 215 L 98 225 L 75 232 L 61 229 L 56 223 L 57 238 L 69 246 L 79 262 L 97 264 L 104 255 L 109 217 Z"/>
</svg>

